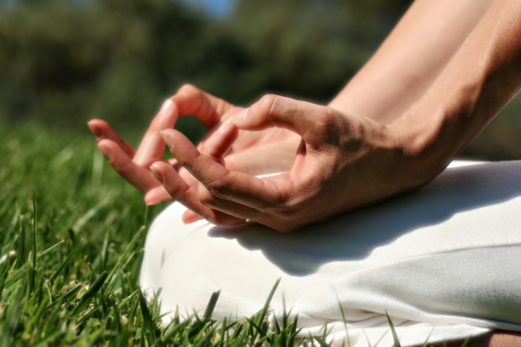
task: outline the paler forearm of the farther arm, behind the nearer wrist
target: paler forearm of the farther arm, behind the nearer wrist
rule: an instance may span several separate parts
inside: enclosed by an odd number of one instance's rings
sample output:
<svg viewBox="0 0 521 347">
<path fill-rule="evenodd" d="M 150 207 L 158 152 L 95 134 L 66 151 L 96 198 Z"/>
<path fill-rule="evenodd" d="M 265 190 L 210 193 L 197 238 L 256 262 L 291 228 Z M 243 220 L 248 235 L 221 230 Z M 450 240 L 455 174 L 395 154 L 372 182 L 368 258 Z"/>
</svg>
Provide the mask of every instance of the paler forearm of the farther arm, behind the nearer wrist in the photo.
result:
<svg viewBox="0 0 521 347">
<path fill-rule="evenodd" d="M 417 0 L 329 106 L 387 124 L 429 88 L 490 0 Z"/>
</svg>

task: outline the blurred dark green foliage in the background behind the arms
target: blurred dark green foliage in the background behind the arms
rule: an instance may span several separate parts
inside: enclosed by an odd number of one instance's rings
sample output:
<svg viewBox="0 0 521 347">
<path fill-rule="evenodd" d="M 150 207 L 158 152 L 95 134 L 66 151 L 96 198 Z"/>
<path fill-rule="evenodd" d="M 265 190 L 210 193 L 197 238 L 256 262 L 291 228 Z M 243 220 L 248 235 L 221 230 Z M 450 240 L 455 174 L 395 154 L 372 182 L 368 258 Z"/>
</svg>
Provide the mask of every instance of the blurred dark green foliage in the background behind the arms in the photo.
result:
<svg viewBox="0 0 521 347">
<path fill-rule="evenodd" d="M 326 102 L 410 2 L 236 0 L 215 17 L 178 0 L 0 0 L 0 118 L 143 131 L 186 82 L 236 104 L 266 92 Z M 521 158 L 519 106 L 465 153 Z"/>
</svg>

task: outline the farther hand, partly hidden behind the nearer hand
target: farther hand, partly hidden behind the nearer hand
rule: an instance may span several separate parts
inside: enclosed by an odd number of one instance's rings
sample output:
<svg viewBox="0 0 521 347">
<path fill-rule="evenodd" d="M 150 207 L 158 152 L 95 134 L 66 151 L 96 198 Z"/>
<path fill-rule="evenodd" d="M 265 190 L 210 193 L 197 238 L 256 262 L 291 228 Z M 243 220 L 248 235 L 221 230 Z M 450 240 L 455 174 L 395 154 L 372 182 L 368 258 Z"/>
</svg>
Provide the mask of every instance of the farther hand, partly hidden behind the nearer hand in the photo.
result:
<svg viewBox="0 0 521 347">
<path fill-rule="evenodd" d="M 159 132 L 165 128 L 172 128 L 178 115 L 193 114 L 207 129 L 205 139 L 198 146 L 201 148 L 208 136 L 226 122 L 232 112 L 240 109 L 242 108 L 209 95 L 192 85 L 184 85 L 174 96 L 165 101 L 144 135 L 138 150 L 121 140 L 113 128 L 102 120 L 91 120 L 89 127 L 98 139 L 98 148 L 113 168 L 145 194 L 147 204 L 155 204 L 172 198 L 148 168 L 154 161 L 163 161 L 172 165 L 188 185 L 199 184 L 188 171 L 177 164 L 177 161 L 167 161 L 163 158 L 165 144 Z M 241 132 L 237 142 L 230 148 L 227 157 L 229 167 L 250 174 L 289 170 L 299 139 L 292 132 L 278 128 L 265 132 Z M 267 158 L 265 152 L 270 152 L 271 156 Z M 197 218 L 199 217 L 192 214 L 191 219 L 187 221 L 194 221 Z"/>
</svg>

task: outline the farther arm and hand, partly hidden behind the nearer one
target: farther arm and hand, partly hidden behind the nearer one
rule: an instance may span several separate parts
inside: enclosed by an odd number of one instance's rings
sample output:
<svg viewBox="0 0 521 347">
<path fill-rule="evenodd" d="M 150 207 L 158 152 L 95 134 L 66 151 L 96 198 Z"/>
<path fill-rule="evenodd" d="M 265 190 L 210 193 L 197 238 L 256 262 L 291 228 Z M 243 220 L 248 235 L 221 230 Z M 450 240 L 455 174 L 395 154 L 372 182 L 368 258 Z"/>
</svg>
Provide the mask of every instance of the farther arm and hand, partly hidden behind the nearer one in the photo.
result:
<svg viewBox="0 0 521 347">
<path fill-rule="evenodd" d="M 329 106 L 363 114 L 383 124 L 393 120 L 425 92 L 468 32 L 474 29 L 490 3 L 490 0 L 466 0 L 456 4 L 448 0 L 416 1 L 374 57 Z M 191 85 L 181 87 L 178 93 L 165 101 L 154 118 L 138 148 L 137 157 L 134 157 L 135 150 L 124 143 L 106 122 L 92 120 L 89 126 L 98 139 L 98 147 L 105 157 L 110 158 L 109 162 L 114 169 L 143 191 L 147 204 L 154 204 L 171 199 L 167 190 L 152 179 L 148 170 L 150 163 L 165 161 L 162 157 L 164 143 L 159 137 L 159 131 L 173 127 L 178 115 L 193 114 L 205 123 L 208 138 L 222 121 L 228 119 L 231 108 L 228 102 Z M 240 142 L 236 142 L 232 153 L 227 155 L 227 168 L 250 174 L 289 170 L 300 137 L 275 128 L 264 133 L 260 142 L 254 140 L 242 147 Z M 246 134 L 240 136 L 252 136 L 252 133 Z M 269 160 L 265 152 L 270 153 Z M 189 186 L 198 184 L 176 162 L 171 164 Z M 184 222 L 198 219 L 201 216 L 190 211 L 183 216 Z"/>
</svg>

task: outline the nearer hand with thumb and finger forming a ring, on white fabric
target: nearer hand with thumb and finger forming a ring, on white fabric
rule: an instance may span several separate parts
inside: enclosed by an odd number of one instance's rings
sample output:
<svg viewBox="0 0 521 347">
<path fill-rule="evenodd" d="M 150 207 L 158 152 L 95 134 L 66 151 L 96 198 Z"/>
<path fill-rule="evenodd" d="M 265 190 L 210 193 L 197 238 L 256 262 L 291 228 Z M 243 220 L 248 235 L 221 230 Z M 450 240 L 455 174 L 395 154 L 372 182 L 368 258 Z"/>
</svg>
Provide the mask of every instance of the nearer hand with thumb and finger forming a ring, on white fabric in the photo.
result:
<svg viewBox="0 0 521 347">
<path fill-rule="evenodd" d="M 171 194 L 182 190 L 176 198 L 214 224 L 249 219 L 288 232 L 403 194 L 442 169 L 426 163 L 420 142 L 403 129 L 308 102 L 266 96 L 234 114 L 234 121 L 241 130 L 275 126 L 299 134 L 291 171 L 256 178 L 227 169 L 222 155 L 234 136 L 229 128 L 212 136 L 205 154 L 181 133 L 165 131 L 176 144 L 172 154 L 202 183 L 198 189 L 183 189 L 174 170 L 153 164 Z"/>
</svg>

